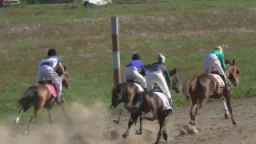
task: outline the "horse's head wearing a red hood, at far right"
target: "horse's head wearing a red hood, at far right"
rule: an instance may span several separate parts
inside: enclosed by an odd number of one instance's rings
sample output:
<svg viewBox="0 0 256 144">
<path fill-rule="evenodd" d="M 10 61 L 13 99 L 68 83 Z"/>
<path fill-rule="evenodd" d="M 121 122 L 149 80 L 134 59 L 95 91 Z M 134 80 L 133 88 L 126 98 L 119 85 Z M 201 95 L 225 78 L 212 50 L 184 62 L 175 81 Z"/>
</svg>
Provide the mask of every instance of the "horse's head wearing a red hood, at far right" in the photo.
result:
<svg viewBox="0 0 256 144">
<path fill-rule="evenodd" d="M 229 78 L 231 82 L 233 82 L 234 86 L 237 86 L 239 82 L 238 74 L 240 71 L 238 67 L 235 66 L 234 59 L 232 63 L 229 60 L 226 60 L 225 63 L 226 63 L 226 70 L 225 70 L 226 77 Z"/>
</svg>

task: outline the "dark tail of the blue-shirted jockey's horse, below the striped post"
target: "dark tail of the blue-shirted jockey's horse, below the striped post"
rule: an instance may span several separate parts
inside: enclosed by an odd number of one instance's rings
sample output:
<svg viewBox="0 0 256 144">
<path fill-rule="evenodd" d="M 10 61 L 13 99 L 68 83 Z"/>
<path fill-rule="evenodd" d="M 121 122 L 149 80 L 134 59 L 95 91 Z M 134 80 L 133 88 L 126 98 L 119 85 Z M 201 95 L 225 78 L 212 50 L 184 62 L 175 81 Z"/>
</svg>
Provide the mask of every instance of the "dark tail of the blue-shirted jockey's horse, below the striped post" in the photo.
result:
<svg viewBox="0 0 256 144">
<path fill-rule="evenodd" d="M 123 83 L 118 84 L 118 86 L 114 86 L 112 89 L 112 103 L 111 106 L 116 108 L 119 103 L 123 101 L 122 96 L 125 93 L 126 86 Z"/>
</svg>

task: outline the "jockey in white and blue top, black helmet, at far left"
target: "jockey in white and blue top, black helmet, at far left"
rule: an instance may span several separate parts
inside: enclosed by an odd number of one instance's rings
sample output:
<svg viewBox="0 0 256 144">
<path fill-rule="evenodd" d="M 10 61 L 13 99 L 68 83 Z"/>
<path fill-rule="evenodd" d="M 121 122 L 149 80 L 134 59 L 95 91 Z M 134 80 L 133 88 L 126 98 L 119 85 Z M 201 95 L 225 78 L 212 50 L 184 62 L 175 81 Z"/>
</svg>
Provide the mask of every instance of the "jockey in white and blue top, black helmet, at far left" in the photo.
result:
<svg viewBox="0 0 256 144">
<path fill-rule="evenodd" d="M 56 86 L 57 98 L 56 101 L 62 102 L 61 93 L 62 93 L 62 80 L 59 78 L 58 74 L 54 71 L 54 67 L 58 66 L 62 73 L 65 74 L 64 67 L 60 59 L 57 56 L 57 52 L 55 49 L 48 50 L 48 56 L 39 63 L 38 66 L 38 81 L 42 81 L 43 78 L 50 79 L 50 81 L 54 82 Z"/>
</svg>

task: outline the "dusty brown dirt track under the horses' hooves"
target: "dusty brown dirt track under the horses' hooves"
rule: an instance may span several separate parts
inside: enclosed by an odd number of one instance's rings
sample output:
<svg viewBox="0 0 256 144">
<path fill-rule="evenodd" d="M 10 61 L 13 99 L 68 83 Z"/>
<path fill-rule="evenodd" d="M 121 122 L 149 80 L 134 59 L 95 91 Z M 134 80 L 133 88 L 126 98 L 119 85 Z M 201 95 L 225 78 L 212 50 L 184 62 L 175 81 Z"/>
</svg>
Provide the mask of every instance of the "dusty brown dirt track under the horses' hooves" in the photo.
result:
<svg viewBox="0 0 256 144">
<path fill-rule="evenodd" d="M 178 111 L 171 115 L 170 122 L 167 124 L 168 142 L 164 142 L 162 139 L 162 143 L 255 143 L 255 102 L 256 98 L 232 101 L 234 118 L 236 118 L 238 126 L 233 126 L 230 119 L 224 118 L 222 102 L 206 103 L 206 106 L 199 111 L 197 117 L 198 134 L 194 134 L 192 127 L 187 124 L 190 118 L 190 107 L 178 108 Z M 135 135 L 133 126 L 130 130 L 130 136 L 123 139 L 122 133 L 126 130 L 129 114 L 123 116 L 121 123 L 116 125 L 111 122 L 111 119 L 106 121 L 106 118 L 104 118 L 106 117 L 104 115 L 106 110 L 102 108 L 100 103 L 96 104 L 94 109 L 74 103 L 70 107 L 70 112 L 73 113 L 75 125 L 67 124 L 62 114 L 55 114 L 54 124 L 49 124 L 47 121 L 41 124 L 34 124 L 32 131 L 27 135 L 21 134 L 25 130 L 25 126 L 0 127 L 0 143 L 142 144 L 154 143 L 158 133 L 158 122 L 144 121 L 142 135 Z M 117 116 L 114 116 L 114 118 L 117 118 Z"/>
</svg>

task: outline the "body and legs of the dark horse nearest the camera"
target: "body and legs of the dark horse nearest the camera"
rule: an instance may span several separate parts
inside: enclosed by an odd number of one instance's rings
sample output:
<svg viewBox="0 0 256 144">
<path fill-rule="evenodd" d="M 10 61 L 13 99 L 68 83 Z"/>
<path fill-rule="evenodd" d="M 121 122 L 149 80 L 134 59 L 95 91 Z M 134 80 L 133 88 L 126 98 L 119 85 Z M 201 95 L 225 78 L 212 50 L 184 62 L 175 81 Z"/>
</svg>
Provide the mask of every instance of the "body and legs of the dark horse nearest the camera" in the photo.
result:
<svg viewBox="0 0 256 144">
<path fill-rule="evenodd" d="M 163 138 L 167 140 L 168 135 L 166 134 L 165 126 L 170 118 L 171 110 L 165 109 L 162 98 L 160 98 L 157 94 L 154 94 L 150 91 L 139 92 L 135 95 L 132 105 L 126 105 L 125 107 L 130 111 L 130 120 L 128 122 L 128 128 L 126 132 L 122 134 L 122 138 L 127 138 L 129 136 L 130 126 L 132 126 L 140 116 L 140 129 L 136 130 L 134 134 L 142 134 L 143 119 L 150 121 L 158 120 L 160 129 L 158 132 L 158 138 L 155 143 L 158 144 L 160 142 L 162 134 Z M 142 113 L 149 112 L 153 114 L 152 117 L 146 117 L 142 115 Z"/>
</svg>

